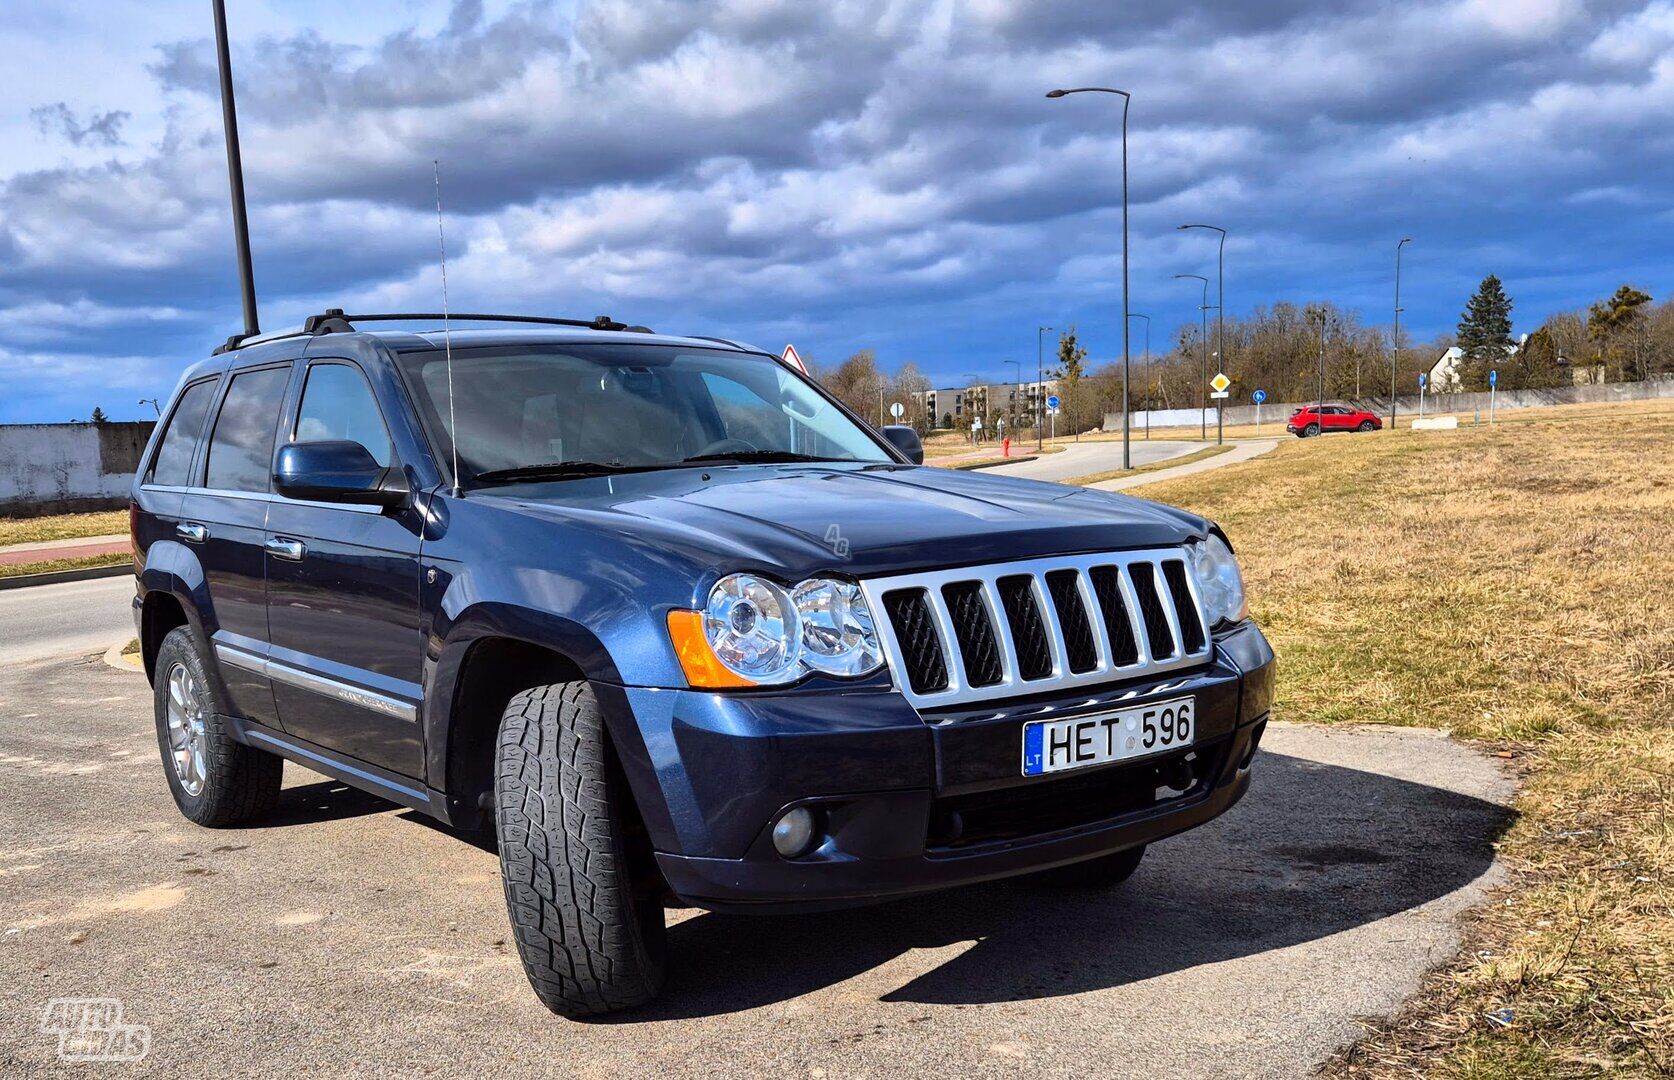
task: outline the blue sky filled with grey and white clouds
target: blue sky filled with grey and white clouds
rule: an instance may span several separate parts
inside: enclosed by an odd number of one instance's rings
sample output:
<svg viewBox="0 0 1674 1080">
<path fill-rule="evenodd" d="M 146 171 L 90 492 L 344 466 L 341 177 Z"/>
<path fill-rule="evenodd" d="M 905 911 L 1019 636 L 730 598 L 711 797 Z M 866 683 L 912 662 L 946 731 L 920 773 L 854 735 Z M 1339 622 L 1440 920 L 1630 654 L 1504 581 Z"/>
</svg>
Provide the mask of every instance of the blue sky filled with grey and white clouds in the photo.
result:
<svg viewBox="0 0 1674 1080">
<path fill-rule="evenodd" d="M 326 306 L 609 313 L 937 385 L 1120 353 L 1133 310 L 1331 298 L 1517 330 L 1671 291 L 1674 3 L 1445 0 L 229 2 L 264 328 Z M 370 13 L 368 13 L 370 8 Z M 149 415 L 238 330 L 203 0 L 10 10 L 0 422 Z M 1138 323 L 1135 323 L 1138 330 Z M 1135 342 L 1138 348 L 1138 342 Z"/>
</svg>

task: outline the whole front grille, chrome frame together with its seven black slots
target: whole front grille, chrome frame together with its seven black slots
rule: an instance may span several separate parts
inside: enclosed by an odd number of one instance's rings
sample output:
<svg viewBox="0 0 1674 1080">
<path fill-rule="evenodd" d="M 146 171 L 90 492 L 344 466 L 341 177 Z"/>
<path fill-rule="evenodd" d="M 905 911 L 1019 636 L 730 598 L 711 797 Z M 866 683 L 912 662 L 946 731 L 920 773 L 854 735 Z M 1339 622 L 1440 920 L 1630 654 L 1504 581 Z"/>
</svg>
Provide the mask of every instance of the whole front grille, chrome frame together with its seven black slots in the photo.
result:
<svg viewBox="0 0 1674 1080">
<path fill-rule="evenodd" d="M 1055 556 L 860 583 L 917 708 L 1170 671 L 1209 658 L 1180 548 Z"/>
</svg>

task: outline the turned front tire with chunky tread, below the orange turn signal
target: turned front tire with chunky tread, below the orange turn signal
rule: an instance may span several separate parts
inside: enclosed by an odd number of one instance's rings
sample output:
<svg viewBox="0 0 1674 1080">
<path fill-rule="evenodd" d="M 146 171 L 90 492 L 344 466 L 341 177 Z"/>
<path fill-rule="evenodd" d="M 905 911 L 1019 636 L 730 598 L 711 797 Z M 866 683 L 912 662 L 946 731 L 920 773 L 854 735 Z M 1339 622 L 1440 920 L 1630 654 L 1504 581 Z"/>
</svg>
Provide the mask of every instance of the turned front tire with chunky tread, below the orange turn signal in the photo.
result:
<svg viewBox="0 0 1674 1080">
<path fill-rule="evenodd" d="M 536 687 L 506 707 L 494 827 L 541 1001 L 574 1018 L 655 998 L 668 956 L 661 877 L 588 683 Z"/>
</svg>

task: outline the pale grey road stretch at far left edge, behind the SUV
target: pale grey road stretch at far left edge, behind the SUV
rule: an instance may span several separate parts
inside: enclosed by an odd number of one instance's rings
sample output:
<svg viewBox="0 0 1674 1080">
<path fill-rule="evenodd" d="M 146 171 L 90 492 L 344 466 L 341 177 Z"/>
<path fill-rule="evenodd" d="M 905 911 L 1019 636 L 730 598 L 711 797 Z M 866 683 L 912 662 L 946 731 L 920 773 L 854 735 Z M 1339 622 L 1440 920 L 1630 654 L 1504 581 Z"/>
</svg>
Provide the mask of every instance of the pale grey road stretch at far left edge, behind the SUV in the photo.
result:
<svg viewBox="0 0 1674 1080">
<path fill-rule="evenodd" d="M 104 651 L 134 636 L 134 578 L 0 589 L 0 663 Z"/>
</svg>

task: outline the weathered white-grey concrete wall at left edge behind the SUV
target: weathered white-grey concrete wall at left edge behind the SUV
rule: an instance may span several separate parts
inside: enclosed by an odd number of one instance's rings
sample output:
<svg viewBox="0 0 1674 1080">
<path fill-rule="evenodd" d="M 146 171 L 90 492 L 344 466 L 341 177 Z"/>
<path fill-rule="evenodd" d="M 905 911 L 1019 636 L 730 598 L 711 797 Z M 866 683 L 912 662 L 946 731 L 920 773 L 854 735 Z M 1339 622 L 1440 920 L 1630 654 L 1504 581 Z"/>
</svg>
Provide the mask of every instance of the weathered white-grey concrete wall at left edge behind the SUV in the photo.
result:
<svg viewBox="0 0 1674 1080">
<path fill-rule="evenodd" d="M 152 427 L 151 420 L 0 424 L 0 516 L 122 506 Z"/>
</svg>

